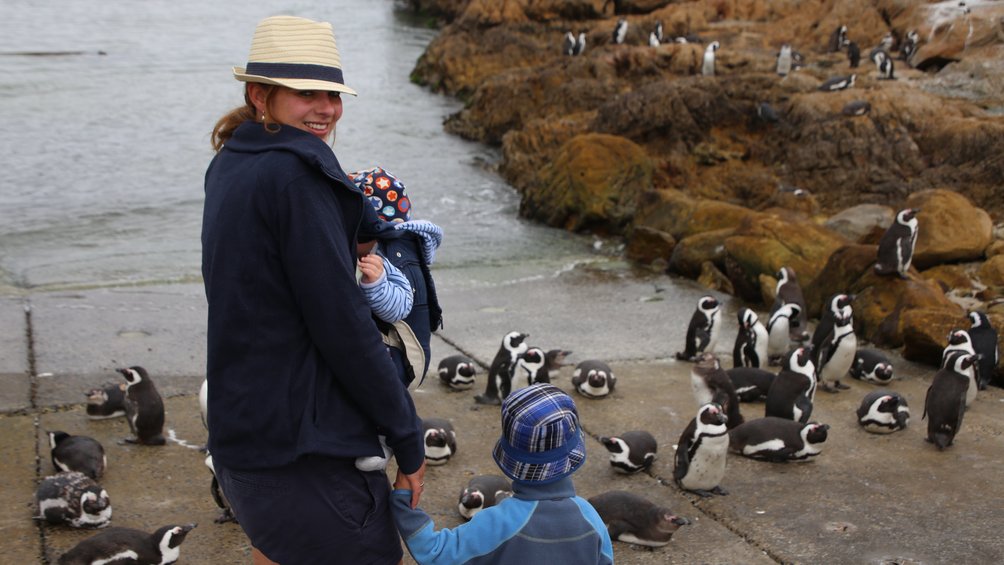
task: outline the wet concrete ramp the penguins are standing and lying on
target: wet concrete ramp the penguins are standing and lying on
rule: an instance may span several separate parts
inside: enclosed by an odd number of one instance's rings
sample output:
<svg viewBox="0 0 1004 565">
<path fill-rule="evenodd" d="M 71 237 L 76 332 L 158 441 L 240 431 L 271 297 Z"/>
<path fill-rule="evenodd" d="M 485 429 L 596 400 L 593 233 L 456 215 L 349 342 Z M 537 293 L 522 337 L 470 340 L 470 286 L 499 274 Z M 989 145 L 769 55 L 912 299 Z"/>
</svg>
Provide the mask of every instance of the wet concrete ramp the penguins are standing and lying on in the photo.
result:
<svg viewBox="0 0 1004 565">
<path fill-rule="evenodd" d="M 438 527 L 462 522 L 457 496 L 470 477 L 496 473 L 490 449 L 498 408 L 479 406 L 484 386 L 452 392 L 435 375 L 439 359 L 463 351 L 487 363 L 507 331 L 530 333 L 545 349 L 573 351 L 570 360 L 604 359 L 617 375 L 607 398 L 571 392 L 571 368 L 555 384 L 569 391 L 592 437 L 576 474 L 578 493 L 613 489 L 643 494 L 691 519 L 666 547 L 614 543 L 618 563 L 941 563 L 1004 561 L 1004 391 L 980 392 L 956 445 L 940 453 L 924 441 L 924 395 L 934 370 L 896 359 L 889 386 L 910 401 L 908 430 L 874 436 L 859 430 L 854 409 L 874 389 L 818 393 L 813 419 L 831 426 L 823 453 L 804 464 L 766 464 L 730 456 L 723 487 L 730 494 L 702 500 L 670 480 L 674 446 L 696 413 L 690 364 L 672 359 L 696 299 L 687 281 L 621 269 L 577 268 L 493 286 L 471 285 L 463 272 L 437 272 L 446 324 L 433 343 L 433 372 L 414 390 L 425 416 L 450 418 L 458 454 L 430 468 L 422 506 Z M 723 297 L 727 298 L 727 297 Z M 731 364 L 734 311 L 727 301 L 726 333 L 718 344 Z M 27 312 L 26 312 L 26 306 Z M 200 285 L 53 291 L 0 298 L 0 473 L 7 488 L 0 507 L 4 562 L 54 563 L 91 532 L 38 526 L 31 516 L 37 482 L 52 473 L 45 432 L 91 436 L 107 451 L 112 525 L 153 531 L 168 523 L 199 524 L 182 547 L 182 563 L 247 563 L 239 527 L 214 524 L 209 471 L 195 448 L 206 434 L 197 391 L 204 374 L 205 298 Z M 167 428 L 177 442 L 163 448 L 123 446 L 121 418 L 88 420 L 83 391 L 118 381 L 115 367 L 146 366 L 167 399 Z M 747 419 L 762 403 L 743 404 Z M 648 430 L 659 460 L 648 475 L 614 474 L 595 438 Z M 409 561 L 406 559 L 406 561 Z"/>
</svg>

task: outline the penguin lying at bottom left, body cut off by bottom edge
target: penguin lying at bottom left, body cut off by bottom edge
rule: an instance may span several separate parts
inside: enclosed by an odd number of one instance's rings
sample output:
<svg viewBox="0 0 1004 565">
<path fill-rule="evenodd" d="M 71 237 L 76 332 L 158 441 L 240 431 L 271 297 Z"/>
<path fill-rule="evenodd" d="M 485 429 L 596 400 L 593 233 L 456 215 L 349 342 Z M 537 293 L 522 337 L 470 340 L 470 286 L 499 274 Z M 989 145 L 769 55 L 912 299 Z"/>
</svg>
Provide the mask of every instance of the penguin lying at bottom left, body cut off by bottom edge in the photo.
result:
<svg viewBox="0 0 1004 565">
<path fill-rule="evenodd" d="M 178 561 L 182 542 L 195 527 L 195 524 L 164 526 L 153 534 L 132 528 L 108 528 L 62 554 L 59 565 L 170 565 Z"/>
</svg>

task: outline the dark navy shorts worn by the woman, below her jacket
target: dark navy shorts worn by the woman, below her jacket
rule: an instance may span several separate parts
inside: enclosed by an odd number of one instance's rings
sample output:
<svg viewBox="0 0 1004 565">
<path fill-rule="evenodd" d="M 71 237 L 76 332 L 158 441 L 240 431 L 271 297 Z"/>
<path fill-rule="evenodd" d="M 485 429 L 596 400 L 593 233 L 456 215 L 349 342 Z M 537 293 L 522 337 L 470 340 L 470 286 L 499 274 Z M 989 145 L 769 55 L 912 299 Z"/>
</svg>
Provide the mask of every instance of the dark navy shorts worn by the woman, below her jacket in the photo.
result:
<svg viewBox="0 0 1004 565">
<path fill-rule="evenodd" d="M 383 472 L 351 459 L 306 456 L 278 469 L 216 466 L 220 487 L 251 545 L 282 565 L 397 564 L 403 551 Z"/>
</svg>

